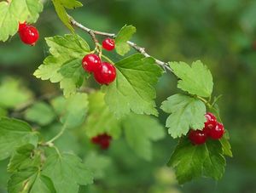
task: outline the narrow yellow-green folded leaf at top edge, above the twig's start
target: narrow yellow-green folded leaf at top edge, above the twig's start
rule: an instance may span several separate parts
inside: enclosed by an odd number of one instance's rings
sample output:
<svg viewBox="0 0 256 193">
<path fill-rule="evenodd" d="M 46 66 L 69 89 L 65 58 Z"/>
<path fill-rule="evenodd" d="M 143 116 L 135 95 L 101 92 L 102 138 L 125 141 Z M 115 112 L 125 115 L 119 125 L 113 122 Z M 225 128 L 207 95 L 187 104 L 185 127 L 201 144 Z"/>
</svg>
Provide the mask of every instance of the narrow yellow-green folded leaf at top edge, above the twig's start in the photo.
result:
<svg viewBox="0 0 256 193">
<path fill-rule="evenodd" d="M 76 0 L 53 0 L 52 3 L 55 6 L 55 11 L 58 14 L 60 20 L 67 26 L 67 28 L 74 32 L 73 26 L 70 24 L 70 18 L 66 9 L 76 9 L 82 7 L 83 4 Z"/>
</svg>

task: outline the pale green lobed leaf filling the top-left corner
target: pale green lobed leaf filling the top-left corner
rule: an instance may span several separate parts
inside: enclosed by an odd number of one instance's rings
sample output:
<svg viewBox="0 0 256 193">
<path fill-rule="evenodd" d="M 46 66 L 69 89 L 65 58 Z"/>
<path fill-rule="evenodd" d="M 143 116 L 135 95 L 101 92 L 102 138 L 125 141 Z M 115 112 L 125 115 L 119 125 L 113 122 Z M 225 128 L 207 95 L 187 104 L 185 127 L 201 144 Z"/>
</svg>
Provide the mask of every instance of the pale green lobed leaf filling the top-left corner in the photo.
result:
<svg viewBox="0 0 256 193">
<path fill-rule="evenodd" d="M 5 42 L 9 36 L 18 31 L 19 21 L 34 23 L 43 10 L 39 0 L 12 0 L 0 2 L 0 41 Z"/>
</svg>

